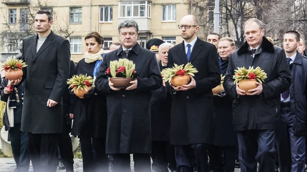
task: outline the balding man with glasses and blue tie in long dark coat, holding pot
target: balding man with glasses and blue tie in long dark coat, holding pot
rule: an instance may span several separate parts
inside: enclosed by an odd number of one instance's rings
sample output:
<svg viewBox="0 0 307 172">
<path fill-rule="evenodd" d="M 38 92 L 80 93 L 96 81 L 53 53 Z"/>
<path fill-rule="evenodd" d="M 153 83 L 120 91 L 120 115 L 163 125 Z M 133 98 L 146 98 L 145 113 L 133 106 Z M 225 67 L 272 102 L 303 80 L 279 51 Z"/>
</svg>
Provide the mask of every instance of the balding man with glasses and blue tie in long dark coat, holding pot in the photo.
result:
<svg viewBox="0 0 307 172">
<path fill-rule="evenodd" d="M 168 52 L 167 67 L 191 62 L 199 71 L 190 76 L 190 83 L 174 87 L 166 83 L 172 93 L 170 142 L 175 144 L 179 172 L 193 171 L 193 148 L 198 172 L 208 171 L 207 144 L 213 144 L 213 93 L 220 84 L 220 68 L 216 47 L 196 37 L 198 20 L 193 15 L 182 18 L 179 26 L 184 41 Z"/>
</svg>

